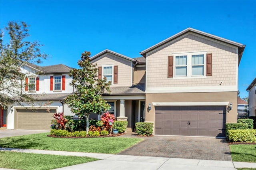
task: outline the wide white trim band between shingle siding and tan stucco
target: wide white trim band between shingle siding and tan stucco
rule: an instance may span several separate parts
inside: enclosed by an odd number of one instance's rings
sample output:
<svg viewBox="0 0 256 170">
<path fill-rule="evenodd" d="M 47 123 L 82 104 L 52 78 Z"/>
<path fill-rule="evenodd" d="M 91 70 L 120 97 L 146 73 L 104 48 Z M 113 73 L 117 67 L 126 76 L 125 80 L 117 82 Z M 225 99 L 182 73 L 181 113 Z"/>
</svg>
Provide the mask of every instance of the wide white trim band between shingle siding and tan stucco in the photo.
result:
<svg viewBox="0 0 256 170">
<path fill-rule="evenodd" d="M 237 86 L 147 87 L 145 93 L 234 92 Z"/>
</svg>

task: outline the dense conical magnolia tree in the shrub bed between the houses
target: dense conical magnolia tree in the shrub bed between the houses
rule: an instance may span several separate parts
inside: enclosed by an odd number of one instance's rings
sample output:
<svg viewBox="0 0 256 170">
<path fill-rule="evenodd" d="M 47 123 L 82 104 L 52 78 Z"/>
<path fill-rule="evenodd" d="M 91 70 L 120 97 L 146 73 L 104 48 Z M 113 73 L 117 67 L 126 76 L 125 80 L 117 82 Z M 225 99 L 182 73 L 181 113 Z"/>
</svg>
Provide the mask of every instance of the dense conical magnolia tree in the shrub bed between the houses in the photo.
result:
<svg viewBox="0 0 256 170">
<path fill-rule="evenodd" d="M 73 94 L 68 95 L 65 103 L 71 111 L 79 117 L 86 118 L 86 134 L 89 131 L 89 116 L 91 113 L 100 115 L 108 110 L 110 105 L 102 98 L 104 90 L 109 92 L 111 81 L 106 78 L 98 79 L 96 64 L 90 63 L 89 51 L 85 51 L 78 61 L 80 69 L 70 70 L 69 75 L 73 78 L 70 85 L 75 89 Z"/>
</svg>

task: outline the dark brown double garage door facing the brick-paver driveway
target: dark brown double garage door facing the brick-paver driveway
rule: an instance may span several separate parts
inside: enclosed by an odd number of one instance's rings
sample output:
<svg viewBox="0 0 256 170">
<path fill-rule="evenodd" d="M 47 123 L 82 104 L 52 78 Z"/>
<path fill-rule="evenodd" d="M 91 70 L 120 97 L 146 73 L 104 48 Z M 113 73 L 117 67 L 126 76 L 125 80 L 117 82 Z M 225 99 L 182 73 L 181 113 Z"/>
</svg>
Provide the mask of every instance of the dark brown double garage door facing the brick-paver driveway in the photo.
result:
<svg viewBox="0 0 256 170">
<path fill-rule="evenodd" d="M 226 107 L 156 107 L 155 134 L 225 136 Z"/>
</svg>

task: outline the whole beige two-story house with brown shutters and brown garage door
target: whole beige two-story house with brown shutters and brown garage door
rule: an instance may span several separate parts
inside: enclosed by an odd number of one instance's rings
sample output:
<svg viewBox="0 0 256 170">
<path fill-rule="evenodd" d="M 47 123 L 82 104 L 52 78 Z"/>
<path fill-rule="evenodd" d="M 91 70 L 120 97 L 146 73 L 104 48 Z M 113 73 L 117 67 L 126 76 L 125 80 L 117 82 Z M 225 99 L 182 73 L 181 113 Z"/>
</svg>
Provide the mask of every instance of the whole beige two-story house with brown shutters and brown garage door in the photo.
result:
<svg viewBox="0 0 256 170">
<path fill-rule="evenodd" d="M 140 52 L 144 59 L 105 50 L 91 61 L 98 64 L 100 79 L 112 81 L 104 99 L 112 102 L 117 118 L 128 120 L 128 128 L 146 121 L 159 135 L 225 136 L 225 123 L 237 122 L 244 48 L 188 28 Z"/>
</svg>

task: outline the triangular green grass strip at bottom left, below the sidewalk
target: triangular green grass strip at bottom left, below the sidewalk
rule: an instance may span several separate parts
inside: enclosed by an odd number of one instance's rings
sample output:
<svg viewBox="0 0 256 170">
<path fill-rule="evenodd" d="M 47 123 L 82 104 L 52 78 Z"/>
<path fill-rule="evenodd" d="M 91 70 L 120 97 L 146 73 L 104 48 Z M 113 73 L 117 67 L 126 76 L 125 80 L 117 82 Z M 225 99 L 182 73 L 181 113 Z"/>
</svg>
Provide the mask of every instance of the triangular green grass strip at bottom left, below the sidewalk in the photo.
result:
<svg viewBox="0 0 256 170">
<path fill-rule="evenodd" d="M 98 160 L 79 156 L 0 151 L 0 167 L 19 170 L 50 170 Z"/>
</svg>

